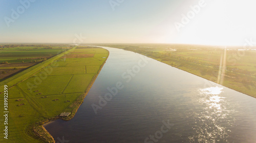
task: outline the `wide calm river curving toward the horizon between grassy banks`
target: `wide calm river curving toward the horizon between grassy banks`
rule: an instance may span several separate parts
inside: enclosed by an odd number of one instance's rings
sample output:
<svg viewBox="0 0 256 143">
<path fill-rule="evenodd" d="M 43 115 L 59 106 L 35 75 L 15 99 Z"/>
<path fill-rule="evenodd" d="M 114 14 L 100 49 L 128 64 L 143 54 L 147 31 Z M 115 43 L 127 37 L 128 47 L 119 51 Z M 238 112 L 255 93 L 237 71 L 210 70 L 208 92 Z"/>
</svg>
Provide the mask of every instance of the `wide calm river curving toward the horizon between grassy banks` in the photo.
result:
<svg viewBox="0 0 256 143">
<path fill-rule="evenodd" d="M 56 142 L 256 142 L 256 99 L 138 53 L 108 60 Z"/>
</svg>

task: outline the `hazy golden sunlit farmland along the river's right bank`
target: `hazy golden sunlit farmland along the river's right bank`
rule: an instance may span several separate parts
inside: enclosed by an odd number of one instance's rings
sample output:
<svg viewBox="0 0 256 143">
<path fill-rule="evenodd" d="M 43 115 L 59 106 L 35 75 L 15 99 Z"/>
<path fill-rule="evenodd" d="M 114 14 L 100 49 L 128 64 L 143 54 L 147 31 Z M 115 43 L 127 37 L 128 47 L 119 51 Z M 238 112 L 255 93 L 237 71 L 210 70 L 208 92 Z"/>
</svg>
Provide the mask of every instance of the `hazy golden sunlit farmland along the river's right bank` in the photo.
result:
<svg viewBox="0 0 256 143">
<path fill-rule="evenodd" d="M 144 54 L 256 98 L 255 47 L 181 44 L 105 44 Z M 250 50 L 253 49 L 253 50 Z"/>
</svg>

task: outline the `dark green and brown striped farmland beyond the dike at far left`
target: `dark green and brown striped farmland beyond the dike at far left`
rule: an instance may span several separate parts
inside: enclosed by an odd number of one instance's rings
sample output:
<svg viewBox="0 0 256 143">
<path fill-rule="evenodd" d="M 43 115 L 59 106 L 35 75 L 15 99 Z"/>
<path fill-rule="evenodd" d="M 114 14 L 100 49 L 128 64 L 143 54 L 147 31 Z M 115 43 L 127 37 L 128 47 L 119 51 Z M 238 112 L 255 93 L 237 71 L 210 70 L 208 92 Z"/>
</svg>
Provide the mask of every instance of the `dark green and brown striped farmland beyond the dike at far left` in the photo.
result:
<svg viewBox="0 0 256 143">
<path fill-rule="evenodd" d="M 32 67 L 70 47 L 6 45 L 0 50 L 0 81 L 22 70 Z"/>
</svg>

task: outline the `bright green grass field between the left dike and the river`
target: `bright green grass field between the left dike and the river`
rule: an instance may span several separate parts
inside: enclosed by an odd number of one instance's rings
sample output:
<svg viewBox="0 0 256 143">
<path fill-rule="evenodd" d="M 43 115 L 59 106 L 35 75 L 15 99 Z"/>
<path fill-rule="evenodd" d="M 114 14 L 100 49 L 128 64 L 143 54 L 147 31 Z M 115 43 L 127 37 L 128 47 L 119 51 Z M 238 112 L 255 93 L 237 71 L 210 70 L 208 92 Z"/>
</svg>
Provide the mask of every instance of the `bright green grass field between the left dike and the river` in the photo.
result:
<svg viewBox="0 0 256 143">
<path fill-rule="evenodd" d="M 63 120 L 75 115 L 108 55 L 102 48 L 74 47 L 0 82 L 1 92 L 8 85 L 8 142 L 53 142 L 41 125 L 61 112 L 72 112 Z M 0 122 L 4 129 L 3 117 Z"/>
</svg>

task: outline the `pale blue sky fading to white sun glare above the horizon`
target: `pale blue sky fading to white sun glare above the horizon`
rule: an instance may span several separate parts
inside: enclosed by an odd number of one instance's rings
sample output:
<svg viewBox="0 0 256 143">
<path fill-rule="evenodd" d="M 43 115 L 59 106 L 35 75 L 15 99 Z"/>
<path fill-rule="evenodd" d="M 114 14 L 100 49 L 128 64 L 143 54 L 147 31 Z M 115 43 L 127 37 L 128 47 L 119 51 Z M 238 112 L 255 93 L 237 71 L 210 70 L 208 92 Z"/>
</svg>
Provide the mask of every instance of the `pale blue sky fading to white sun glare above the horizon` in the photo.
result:
<svg viewBox="0 0 256 143">
<path fill-rule="evenodd" d="M 0 0 L 0 42 L 243 45 L 245 39 L 256 41 L 255 4 L 254 0 Z"/>
</svg>

